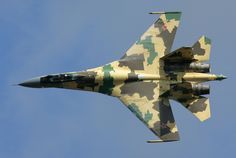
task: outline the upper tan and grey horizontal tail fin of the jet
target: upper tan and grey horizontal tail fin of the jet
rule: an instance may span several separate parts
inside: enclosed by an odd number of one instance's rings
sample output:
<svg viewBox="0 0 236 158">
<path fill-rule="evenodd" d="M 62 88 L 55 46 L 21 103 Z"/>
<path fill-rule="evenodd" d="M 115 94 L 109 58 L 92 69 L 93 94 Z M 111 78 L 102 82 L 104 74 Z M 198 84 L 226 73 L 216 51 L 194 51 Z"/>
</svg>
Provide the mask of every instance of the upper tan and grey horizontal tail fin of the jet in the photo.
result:
<svg viewBox="0 0 236 158">
<path fill-rule="evenodd" d="M 194 59 L 198 61 L 208 61 L 211 52 L 211 40 L 202 36 L 193 46 L 192 52 Z"/>
</svg>

